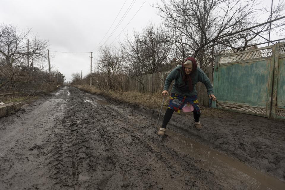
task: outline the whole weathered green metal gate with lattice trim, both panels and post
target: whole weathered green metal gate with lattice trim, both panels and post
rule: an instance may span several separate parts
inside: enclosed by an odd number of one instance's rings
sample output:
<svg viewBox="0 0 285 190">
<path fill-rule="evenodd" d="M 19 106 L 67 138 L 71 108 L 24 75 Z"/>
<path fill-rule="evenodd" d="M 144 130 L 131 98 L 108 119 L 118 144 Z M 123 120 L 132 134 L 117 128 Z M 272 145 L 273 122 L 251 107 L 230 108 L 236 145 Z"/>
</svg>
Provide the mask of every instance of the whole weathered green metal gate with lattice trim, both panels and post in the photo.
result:
<svg viewBox="0 0 285 190">
<path fill-rule="evenodd" d="M 212 107 L 285 118 L 284 46 L 278 43 L 216 56 L 213 87 L 217 101 Z"/>
</svg>

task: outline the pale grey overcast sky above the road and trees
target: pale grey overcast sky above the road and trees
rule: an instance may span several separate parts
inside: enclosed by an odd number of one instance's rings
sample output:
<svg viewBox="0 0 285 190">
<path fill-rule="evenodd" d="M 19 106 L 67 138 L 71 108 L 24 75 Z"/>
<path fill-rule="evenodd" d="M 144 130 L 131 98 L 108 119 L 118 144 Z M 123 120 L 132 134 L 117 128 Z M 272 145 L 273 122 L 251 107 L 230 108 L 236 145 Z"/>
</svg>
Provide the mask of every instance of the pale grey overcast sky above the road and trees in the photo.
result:
<svg viewBox="0 0 285 190">
<path fill-rule="evenodd" d="M 277 4 L 277 0 L 274 1 Z M 271 0 L 262 2 L 265 6 L 271 4 Z M 66 76 L 66 81 L 69 81 L 72 79 L 72 73 L 80 73 L 81 70 L 83 76 L 90 73 L 90 53 L 55 51 L 92 51 L 93 61 L 96 61 L 99 42 L 102 40 L 103 44 L 106 41 L 130 6 L 132 8 L 118 29 L 110 36 L 107 44 L 113 42 L 125 27 L 117 39 L 120 37 L 123 39 L 125 32 L 132 34 L 134 29 L 141 31 L 150 22 L 154 24 L 162 22 L 156 15 L 157 9 L 151 7 L 153 3 L 156 3 L 156 0 L 1 0 L 0 22 L 12 23 L 20 29 L 32 29 L 31 34 L 49 40 L 49 50 L 53 56 L 51 65 L 54 70 L 58 68 Z M 117 15 L 118 18 L 115 20 Z M 107 33 L 114 20 L 113 26 Z"/>
</svg>

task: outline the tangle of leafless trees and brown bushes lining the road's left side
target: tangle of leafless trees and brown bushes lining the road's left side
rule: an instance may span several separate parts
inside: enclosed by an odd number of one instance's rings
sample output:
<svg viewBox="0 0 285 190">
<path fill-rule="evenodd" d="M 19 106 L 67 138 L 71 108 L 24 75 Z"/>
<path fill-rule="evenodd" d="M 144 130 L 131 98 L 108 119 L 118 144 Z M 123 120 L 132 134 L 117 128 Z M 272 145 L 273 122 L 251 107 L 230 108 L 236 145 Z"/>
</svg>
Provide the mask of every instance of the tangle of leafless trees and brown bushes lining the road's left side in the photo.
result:
<svg viewBox="0 0 285 190">
<path fill-rule="evenodd" d="M 29 34 L 12 24 L 0 25 L 0 90 L 50 91 L 65 80 L 60 72 L 45 70 L 48 42 L 34 36 L 28 45 Z"/>
</svg>

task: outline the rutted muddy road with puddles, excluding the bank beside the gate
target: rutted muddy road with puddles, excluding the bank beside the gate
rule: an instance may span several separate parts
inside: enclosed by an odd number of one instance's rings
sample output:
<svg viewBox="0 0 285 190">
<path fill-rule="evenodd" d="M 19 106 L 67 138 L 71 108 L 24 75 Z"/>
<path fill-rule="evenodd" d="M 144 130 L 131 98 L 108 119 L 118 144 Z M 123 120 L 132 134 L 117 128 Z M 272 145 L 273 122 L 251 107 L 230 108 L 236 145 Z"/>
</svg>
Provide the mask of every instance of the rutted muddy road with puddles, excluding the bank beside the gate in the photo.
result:
<svg viewBox="0 0 285 190">
<path fill-rule="evenodd" d="M 61 87 L 0 118 L 0 189 L 284 189 L 149 115 Z"/>
</svg>

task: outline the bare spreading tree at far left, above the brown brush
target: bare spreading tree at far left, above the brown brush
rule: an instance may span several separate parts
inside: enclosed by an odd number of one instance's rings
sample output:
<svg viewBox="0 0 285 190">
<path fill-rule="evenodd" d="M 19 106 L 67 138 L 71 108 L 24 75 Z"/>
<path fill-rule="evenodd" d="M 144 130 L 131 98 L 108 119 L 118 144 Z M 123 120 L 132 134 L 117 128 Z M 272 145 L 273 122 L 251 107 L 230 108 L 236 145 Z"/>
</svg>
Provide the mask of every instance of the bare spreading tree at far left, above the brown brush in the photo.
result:
<svg viewBox="0 0 285 190">
<path fill-rule="evenodd" d="M 9 82 L 35 83 L 37 80 L 30 80 L 31 76 L 44 71 L 43 60 L 46 58 L 47 41 L 41 40 L 37 36 L 33 37 L 29 43 L 28 53 L 27 37 L 29 33 L 30 30 L 27 32 L 20 31 L 12 24 L 0 25 L 1 75 L 5 78 L 1 81 L 0 87 Z M 28 54 L 32 63 L 31 68 L 26 65 Z M 26 79 L 24 79 L 24 76 L 26 76 Z"/>
</svg>

